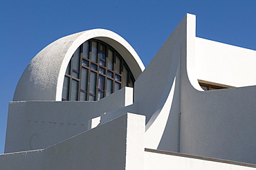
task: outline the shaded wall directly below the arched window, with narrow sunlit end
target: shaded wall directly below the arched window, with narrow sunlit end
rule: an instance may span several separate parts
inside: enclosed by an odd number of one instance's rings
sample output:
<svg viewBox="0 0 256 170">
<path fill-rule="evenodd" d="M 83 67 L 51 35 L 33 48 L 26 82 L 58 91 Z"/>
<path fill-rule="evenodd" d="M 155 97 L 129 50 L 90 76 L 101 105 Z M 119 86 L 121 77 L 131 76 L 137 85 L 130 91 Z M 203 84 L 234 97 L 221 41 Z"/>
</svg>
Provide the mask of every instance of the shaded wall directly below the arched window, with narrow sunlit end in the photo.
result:
<svg viewBox="0 0 256 170">
<path fill-rule="evenodd" d="M 98 102 L 10 102 L 5 153 L 44 149 L 87 130 L 88 121 L 133 102 L 133 88 Z"/>
</svg>

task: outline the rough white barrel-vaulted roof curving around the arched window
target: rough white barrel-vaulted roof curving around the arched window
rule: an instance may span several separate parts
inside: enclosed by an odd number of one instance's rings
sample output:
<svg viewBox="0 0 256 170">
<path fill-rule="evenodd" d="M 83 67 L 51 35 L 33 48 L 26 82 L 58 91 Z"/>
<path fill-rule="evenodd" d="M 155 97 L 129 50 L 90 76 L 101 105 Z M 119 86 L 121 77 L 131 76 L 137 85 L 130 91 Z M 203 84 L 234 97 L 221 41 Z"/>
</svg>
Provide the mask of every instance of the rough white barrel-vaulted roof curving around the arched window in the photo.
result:
<svg viewBox="0 0 256 170">
<path fill-rule="evenodd" d="M 17 84 L 14 101 L 62 100 L 62 87 L 68 62 L 75 50 L 89 39 L 100 39 L 115 48 L 137 79 L 145 69 L 140 57 L 115 32 L 93 29 L 57 39 L 41 50 L 28 64 Z"/>
</svg>

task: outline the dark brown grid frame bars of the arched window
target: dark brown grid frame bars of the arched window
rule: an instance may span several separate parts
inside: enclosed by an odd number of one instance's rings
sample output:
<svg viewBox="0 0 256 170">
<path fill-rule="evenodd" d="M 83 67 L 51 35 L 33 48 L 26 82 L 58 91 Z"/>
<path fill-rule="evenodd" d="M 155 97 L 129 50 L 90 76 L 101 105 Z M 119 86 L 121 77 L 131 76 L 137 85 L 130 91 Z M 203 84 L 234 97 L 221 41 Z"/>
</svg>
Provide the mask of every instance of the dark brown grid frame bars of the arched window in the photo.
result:
<svg viewBox="0 0 256 170">
<path fill-rule="evenodd" d="M 84 44 L 86 42 L 89 44 L 89 49 L 88 49 L 89 58 L 84 57 L 84 51 L 83 50 L 84 50 Z M 96 55 L 97 56 L 96 60 L 98 61 L 97 63 L 93 62 L 92 59 L 91 59 L 92 48 L 93 48 L 92 44 L 93 44 L 93 42 L 97 43 L 97 55 Z M 104 46 L 104 51 L 100 50 L 100 46 Z M 129 66 L 126 64 L 126 62 L 122 58 L 122 56 L 112 46 L 110 46 L 109 44 L 106 44 L 103 41 L 100 41 L 98 39 L 89 39 L 89 40 L 85 41 L 83 44 L 81 44 L 79 49 L 80 49 L 80 51 L 79 51 L 79 54 L 80 54 L 80 60 L 79 60 L 80 61 L 80 68 L 78 70 L 79 78 L 77 79 L 76 77 L 72 76 L 73 71 L 76 71 L 76 70 L 73 70 L 73 56 L 75 54 L 74 53 L 72 55 L 72 57 L 71 57 L 70 62 L 68 63 L 68 65 L 70 64 L 70 68 L 69 68 L 70 75 L 68 75 L 68 71 L 67 70 L 66 70 L 66 73 L 65 73 L 65 77 L 69 77 L 68 99 L 67 100 L 64 99 L 63 98 L 63 94 L 62 94 L 62 101 L 70 101 L 71 100 L 71 93 L 72 93 L 71 89 L 72 89 L 72 80 L 73 79 L 79 82 L 77 101 L 80 101 L 80 99 L 81 99 L 81 92 L 82 93 L 86 93 L 86 101 L 89 101 L 89 96 L 90 95 L 95 97 L 94 101 L 98 101 L 99 92 L 103 92 L 103 97 L 107 97 L 107 95 L 108 95 L 108 93 L 107 93 L 107 79 L 111 79 L 111 82 L 112 82 L 112 87 L 111 87 L 112 88 L 111 89 L 112 93 L 115 92 L 116 83 L 120 84 L 120 88 L 124 87 L 124 84 L 123 84 L 124 83 L 124 81 L 123 81 L 123 78 L 124 78 L 123 69 L 124 69 L 124 67 L 127 69 L 127 75 L 126 75 L 126 77 L 127 77 L 127 85 L 125 85 L 125 86 L 132 86 L 133 87 L 135 79 L 134 79 L 134 76 L 131 73 L 131 70 L 130 70 Z M 113 70 L 108 68 L 108 64 L 109 64 L 109 50 L 111 50 L 112 55 L 113 55 L 112 56 L 113 57 L 112 58 L 113 61 L 111 62 L 112 65 L 113 65 Z M 76 50 L 75 50 L 75 52 L 76 52 Z M 101 61 L 100 54 L 101 53 L 104 53 L 104 55 L 105 55 L 104 66 L 102 66 L 100 64 L 100 61 Z M 116 66 L 117 66 L 116 65 L 116 59 L 117 59 L 117 57 L 120 59 L 120 73 L 116 72 Z M 86 61 L 88 63 L 88 66 L 85 66 L 83 64 L 83 61 Z M 92 64 L 95 64 L 97 66 L 97 70 L 94 70 L 91 67 Z M 81 89 L 82 68 L 87 69 L 86 90 Z M 68 67 L 66 69 L 68 69 Z M 100 70 L 104 70 L 104 73 L 100 73 Z M 91 72 L 96 73 L 96 77 L 95 77 L 95 82 L 96 82 L 95 83 L 95 94 L 90 93 L 90 91 L 89 91 L 90 90 L 90 86 L 91 86 Z M 113 77 L 109 77 L 108 76 L 108 72 L 111 73 L 113 75 Z M 100 78 L 100 75 L 104 77 L 104 87 L 103 87 L 103 90 L 99 88 L 99 78 Z M 116 76 L 120 77 L 120 81 L 118 79 L 116 79 Z M 63 91 L 63 88 L 62 88 L 62 91 Z"/>
</svg>

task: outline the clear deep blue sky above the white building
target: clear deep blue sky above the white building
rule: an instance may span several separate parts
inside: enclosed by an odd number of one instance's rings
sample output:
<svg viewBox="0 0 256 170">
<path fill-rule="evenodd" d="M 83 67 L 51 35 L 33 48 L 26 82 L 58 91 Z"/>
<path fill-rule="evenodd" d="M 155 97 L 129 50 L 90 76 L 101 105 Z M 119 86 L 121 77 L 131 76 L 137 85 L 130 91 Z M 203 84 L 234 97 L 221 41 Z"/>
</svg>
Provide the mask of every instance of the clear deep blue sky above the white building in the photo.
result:
<svg viewBox="0 0 256 170">
<path fill-rule="evenodd" d="M 8 102 L 19 77 L 30 60 L 56 39 L 92 28 L 112 30 L 147 66 L 179 21 L 191 13 L 196 15 L 197 37 L 256 50 L 255 8 L 255 0 L 1 1 L 0 154 Z"/>
</svg>

